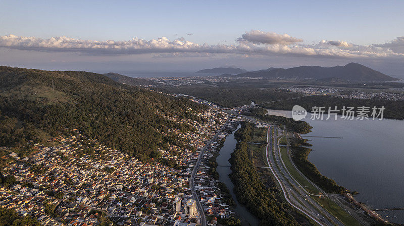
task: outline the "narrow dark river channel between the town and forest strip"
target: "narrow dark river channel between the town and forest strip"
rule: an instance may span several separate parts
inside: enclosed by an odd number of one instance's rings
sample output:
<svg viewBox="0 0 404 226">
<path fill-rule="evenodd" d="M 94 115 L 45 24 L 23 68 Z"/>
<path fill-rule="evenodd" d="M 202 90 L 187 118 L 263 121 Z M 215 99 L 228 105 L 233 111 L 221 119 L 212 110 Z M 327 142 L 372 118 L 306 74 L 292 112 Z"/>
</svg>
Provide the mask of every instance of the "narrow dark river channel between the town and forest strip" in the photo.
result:
<svg viewBox="0 0 404 226">
<path fill-rule="evenodd" d="M 241 126 L 238 125 L 237 129 Z M 236 129 L 236 130 L 237 130 Z M 248 223 L 251 226 L 257 226 L 259 223 L 259 219 L 253 216 L 248 210 L 241 205 L 236 198 L 236 195 L 233 192 L 234 184 L 231 182 L 229 174 L 231 173 L 229 159 L 231 158 L 231 154 L 233 150 L 236 148 L 236 139 L 234 138 L 234 131 L 233 133 L 229 134 L 224 141 L 224 146 L 220 149 L 219 156 L 216 158 L 216 162 L 218 163 L 217 172 L 219 173 L 219 181 L 226 184 L 227 188 L 230 190 L 230 194 L 233 197 L 234 201 L 236 202 L 237 206 L 234 207 L 234 211 L 236 215 L 241 218 L 242 225 L 246 226 Z M 248 222 L 248 223 L 246 223 Z"/>
</svg>

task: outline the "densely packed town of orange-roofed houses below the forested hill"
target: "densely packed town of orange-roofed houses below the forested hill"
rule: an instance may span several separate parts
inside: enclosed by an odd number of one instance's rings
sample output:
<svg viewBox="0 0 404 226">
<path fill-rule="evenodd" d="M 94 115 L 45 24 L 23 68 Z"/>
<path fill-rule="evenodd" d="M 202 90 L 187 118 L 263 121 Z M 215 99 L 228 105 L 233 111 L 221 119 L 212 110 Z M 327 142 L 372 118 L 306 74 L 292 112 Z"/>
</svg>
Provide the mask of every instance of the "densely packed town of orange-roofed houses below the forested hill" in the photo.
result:
<svg viewBox="0 0 404 226">
<path fill-rule="evenodd" d="M 46 144 L 31 143 L 23 153 L 2 147 L 6 153 L 2 178 L 9 183 L 0 188 L 0 206 L 20 216 L 36 217 L 42 225 L 194 226 L 200 224 L 196 208 L 196 201 L 200 201 L 207 224 L 215 226 L 233 214 L 232 200 L 223 192 L 226 189 L 219 189 L 218 175 L 209 162 L 238 122 L 212 103 L 193 101 L 211 106 L 198 113 L 207 122 L 167 117 L 196 128 L 186 133 L 168 128 L 187 141 L 188 148 L 159 148 L 160 156 L 147 162 L 76 130 Z M 219 135 L 211 140 L 216 133 Z M 195 178 L 199 199 L 195 200 L 189 187 L 190 173 L 206 145 Z"/>
</svg>

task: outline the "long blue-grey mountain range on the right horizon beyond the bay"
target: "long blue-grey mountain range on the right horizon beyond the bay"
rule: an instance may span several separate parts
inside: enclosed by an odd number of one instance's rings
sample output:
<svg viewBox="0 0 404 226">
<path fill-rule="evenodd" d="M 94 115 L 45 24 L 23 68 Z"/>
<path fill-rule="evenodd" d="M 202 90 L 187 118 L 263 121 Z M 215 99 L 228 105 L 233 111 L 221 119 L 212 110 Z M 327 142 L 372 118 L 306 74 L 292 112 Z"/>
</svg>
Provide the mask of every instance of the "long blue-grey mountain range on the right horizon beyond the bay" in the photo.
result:
<svg viewBox="0 0 404 226">
<path fill-rule="evenodd" d="M 278 68 L 269 71 L 250 71 L 238 74 L 238 76 L 263 78 L 312 78 L 317 80 L 334 78 L 345 81 L 398 80 L 359 63 L 348 63 L 345 66 L 334 67 L 299 66 L 288 69 Z"/>
</svg>

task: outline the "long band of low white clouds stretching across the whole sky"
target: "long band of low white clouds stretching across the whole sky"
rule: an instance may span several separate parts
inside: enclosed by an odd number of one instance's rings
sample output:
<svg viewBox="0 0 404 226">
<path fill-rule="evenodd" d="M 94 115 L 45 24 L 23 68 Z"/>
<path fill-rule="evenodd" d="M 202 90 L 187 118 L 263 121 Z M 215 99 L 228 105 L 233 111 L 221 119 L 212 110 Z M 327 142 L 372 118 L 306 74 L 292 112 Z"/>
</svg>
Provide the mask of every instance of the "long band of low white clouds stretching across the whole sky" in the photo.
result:
<svg viewBox="0 0 404 226">
<path fill-rule="evenodd" d="M 322 40 L 318 44 L 299 43 L 301 39 L 289 35 L 270 32 L 251 31 L 243 34 L 237 45 L 197 44 L 181 37 L 170 41 L 166 37 L 144 40 L 133 38 L 129 41 L 94 41 L 68 37 L 22 37 L 15 35 L 0 36 L 0 47 L 43 51 L 43 52 L 79 52 L 89 55 L 129 55 L 158 54 L 156 57 L 211 56 L 216 54 L 236 54 L 239 56 L 291 55 L 322 56 L 336 58 L 404 58 L 403 37 L 384 44 L 356 45 L 345 41 Z M 163 54 L 165 53 L 165 54 Z M 183 53 L 183 54 L 181 54 Z M 160 54 L 160 55 L 159 55 Z"/>
</svg>

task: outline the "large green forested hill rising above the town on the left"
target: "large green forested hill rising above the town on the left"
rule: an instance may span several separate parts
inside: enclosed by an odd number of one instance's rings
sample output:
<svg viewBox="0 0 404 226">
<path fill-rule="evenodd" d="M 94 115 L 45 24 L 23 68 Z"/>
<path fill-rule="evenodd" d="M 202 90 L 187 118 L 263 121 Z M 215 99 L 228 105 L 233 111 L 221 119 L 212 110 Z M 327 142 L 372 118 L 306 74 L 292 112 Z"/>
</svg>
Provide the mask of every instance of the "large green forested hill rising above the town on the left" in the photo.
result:
<svg viewBox="0 0 404 226">
<path fill-rule="evenodd" d="M 176 142 L 166 128 L 191 130 L 160 114 L 201 120 L 204 105 L 139 87 L 102 74 L 0 66 L 0 146 L 19 146 L 77 129 L 89 138 L 141 160 Z M 68 129 L 65 129 L 68 128 Z"/>
</svg>

